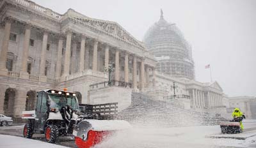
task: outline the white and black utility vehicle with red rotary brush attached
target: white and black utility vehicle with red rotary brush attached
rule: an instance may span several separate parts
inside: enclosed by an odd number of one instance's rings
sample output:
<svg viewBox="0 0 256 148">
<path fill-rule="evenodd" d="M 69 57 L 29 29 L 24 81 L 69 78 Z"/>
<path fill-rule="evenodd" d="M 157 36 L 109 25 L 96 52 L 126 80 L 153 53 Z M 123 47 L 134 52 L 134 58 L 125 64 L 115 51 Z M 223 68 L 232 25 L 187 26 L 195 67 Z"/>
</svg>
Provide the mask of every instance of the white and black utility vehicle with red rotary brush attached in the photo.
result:
<svg viewBox="0 0 256 148">
<path fill-rule="evenodd" d="M 56 90 L 38 92 L 35 110 L 22 112 L 22 119 L 28 119 L 23 130 L 23 135 L 26 138 L 32 138 L 34 133 L 44 133 L 45 140 L 54 143 L 56 138 L 72 134 L 76 127 L 74 131 L 77 134 L 75 135 L 81 137 L 83 142 L 84 140 L 90 142 L 91 146 L 99 143 L 99 139 L 102 139 L 110 131 L 118 129 L 109 128 L 108 130 L 108 125 L 110 125 L 109 127 L 118 126 L 117 124 L 129 125 L 126 121 L 93 120 L 99 119 L 99 114 L 81 113 L 76 93 Z M 116 122 L 116 125 L 111 124 L 112 122 Z M 97 132 L 93 132 L 94 129 L 97 129 Z"/>
</svg>

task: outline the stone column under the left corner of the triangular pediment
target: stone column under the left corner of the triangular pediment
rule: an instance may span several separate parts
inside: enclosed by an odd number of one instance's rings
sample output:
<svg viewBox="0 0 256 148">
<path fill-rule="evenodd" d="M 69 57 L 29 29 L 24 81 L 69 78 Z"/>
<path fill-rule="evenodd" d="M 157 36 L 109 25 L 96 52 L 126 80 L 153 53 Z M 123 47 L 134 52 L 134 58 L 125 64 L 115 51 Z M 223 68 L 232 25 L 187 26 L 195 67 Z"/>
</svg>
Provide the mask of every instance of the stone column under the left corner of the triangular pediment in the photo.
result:
<svg viewBox="0 0 256 148">
<path fill-rule="evenodd" d="M 67 31 L 67 40 L 66 40 L 66 51 L 65 51 L 65 59 L 64 59 L 63 78 L 65 78 L 65 77 L 67 77 L 69 75 L 71 37 L 72 37 L 72 32 L 71 31 Z"/>
</svg>

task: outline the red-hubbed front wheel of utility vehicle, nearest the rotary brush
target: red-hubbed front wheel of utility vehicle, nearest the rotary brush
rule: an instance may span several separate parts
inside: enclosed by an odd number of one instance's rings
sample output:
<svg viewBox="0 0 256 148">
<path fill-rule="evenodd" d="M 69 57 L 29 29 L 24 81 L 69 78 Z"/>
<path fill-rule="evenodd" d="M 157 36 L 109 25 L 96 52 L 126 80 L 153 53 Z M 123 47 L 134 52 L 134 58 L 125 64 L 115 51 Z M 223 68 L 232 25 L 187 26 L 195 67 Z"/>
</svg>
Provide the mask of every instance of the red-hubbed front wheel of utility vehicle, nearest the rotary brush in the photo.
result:
<svg viewBox="0 0 256 148">
<path fill-rule="evenodd" d="M 48 125 L 45 128 L 45 140 L 49 143 L 55 143 L 56 139 L 59 136 L 58 126 L 56 125 Z"/>
</svg>

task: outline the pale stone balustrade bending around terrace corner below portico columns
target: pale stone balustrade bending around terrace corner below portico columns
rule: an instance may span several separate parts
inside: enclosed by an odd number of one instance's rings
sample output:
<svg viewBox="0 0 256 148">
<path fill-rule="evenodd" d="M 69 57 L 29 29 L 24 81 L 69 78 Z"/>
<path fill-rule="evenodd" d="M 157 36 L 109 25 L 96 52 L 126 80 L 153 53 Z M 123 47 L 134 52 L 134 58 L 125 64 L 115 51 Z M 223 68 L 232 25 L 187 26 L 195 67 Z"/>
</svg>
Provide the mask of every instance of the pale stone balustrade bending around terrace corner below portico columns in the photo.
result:
<svg viewBox="0 0 256 148">
<path fill-rule="evenodd" d="M 95 77 L 108 78 L 108 75 L 106 73 L 102 73 L 100 71 L 93 71 L 93 70 L 84 70 L 83 72 L 78 72 L 78 73 L 74 73 L 72 75 L 68 75 L 66 80 L 71 80 L 73 78 L 82 77 L 84 75 L 92 75 Z"/>
</svg>

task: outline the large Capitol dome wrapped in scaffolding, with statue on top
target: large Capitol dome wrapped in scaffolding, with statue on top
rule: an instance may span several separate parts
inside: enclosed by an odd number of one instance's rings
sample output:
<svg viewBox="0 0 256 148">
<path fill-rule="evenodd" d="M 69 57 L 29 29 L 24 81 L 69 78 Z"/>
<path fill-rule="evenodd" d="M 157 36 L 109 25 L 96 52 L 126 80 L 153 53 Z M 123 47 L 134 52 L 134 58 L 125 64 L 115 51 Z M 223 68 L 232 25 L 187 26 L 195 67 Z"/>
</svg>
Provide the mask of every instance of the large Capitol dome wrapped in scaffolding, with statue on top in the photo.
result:
<svg viewBox="0 0 256 148">
<path fill-rule="evenodd" d="M 162 10 L 159 21 L 148 29 L 143 42 L 158 61 L 157 71 L 174 77 L 195 78 L 191 46 L 175 24 L 164 20 Z"/>
</svg>

